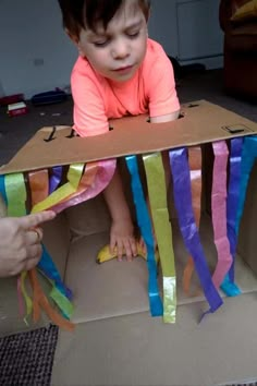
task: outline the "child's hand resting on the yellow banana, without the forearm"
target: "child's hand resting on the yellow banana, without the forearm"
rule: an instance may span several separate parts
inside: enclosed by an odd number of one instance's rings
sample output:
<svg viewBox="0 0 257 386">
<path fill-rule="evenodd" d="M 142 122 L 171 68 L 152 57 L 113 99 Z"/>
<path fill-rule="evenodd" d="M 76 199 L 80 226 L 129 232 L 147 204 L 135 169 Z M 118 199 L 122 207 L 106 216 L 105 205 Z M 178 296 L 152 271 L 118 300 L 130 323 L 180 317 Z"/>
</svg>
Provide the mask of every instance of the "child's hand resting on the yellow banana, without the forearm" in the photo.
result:
<svg viewBox="0 0 257 386">
<path fill-rule="evenodd" d="M 114 246 L 118 251 L 118 261 L 122 261 L 125 255 L 131 262 L 137 255 L 136 240 L 133 234 L 133 225 L 130 218 L 122 218 L 112 221 L 110 234 L 110 252 L 113 253 Z"/>
</svg>

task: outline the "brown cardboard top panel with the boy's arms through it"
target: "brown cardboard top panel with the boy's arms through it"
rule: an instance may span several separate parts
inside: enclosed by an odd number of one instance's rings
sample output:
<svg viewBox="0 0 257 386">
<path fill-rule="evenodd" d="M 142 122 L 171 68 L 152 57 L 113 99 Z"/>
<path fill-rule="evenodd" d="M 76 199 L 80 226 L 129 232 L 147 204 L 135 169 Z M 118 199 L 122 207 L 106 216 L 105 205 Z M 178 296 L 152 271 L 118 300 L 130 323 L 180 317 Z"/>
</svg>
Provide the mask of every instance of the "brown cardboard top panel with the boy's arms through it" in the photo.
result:
<svg viewBox="0 0 257 386">
<path fill-rule="evenodd" d="M 71 128 L 40 129 L 1 174 L 146 154 L 257 133 L 257 123 L 205 100 L 182 106 L 182 118 L 149 123 L 147 116 L 111 120 L 110 132 L 91 137 L 71 136 Z"/>
</svg>

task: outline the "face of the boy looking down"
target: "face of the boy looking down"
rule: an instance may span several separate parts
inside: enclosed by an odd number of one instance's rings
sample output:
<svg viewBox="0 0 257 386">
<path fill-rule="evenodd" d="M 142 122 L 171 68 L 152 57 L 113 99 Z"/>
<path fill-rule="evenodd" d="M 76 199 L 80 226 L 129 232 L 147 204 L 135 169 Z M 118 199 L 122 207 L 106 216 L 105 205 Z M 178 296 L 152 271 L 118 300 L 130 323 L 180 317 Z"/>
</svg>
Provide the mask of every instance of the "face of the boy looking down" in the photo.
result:
<svg viewBox="0 0 257 386">
<path fill-rule="evenodd" d="M 78 49 L 102 76 L 117 82 L 133 77 L 143 62 L 147 45 L 147 23 L 135 0 L 125 0 L 105 31 L 81 31 Z"/>
</svg>

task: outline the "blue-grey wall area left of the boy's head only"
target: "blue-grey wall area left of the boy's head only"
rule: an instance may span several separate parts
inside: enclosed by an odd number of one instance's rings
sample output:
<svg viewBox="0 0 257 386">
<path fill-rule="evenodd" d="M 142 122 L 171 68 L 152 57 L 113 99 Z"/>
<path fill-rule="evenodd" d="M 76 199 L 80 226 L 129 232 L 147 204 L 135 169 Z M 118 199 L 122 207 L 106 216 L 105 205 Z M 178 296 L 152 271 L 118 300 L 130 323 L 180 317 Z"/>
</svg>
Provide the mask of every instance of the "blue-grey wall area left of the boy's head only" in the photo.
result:
<svg viewBox="0 0 257 386">
<path fill-rule="evenodd" d="M 76 58 L 57 0 L 0 1 L 0 93 L 35 93 L 65 86 Z"/>
</svg>

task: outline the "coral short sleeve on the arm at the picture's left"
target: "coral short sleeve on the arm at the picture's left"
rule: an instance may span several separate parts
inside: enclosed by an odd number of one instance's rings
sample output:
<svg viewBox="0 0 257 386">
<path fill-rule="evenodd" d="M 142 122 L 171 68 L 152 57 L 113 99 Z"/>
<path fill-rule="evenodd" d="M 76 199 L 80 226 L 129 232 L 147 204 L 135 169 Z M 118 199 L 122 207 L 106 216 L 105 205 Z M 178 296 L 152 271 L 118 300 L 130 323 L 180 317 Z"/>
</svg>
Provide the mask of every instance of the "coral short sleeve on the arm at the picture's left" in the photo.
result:
<svg viewBox="0 0 257 386">
<path fill-rule="evenodd" d="M 71 88 L 74 101 L 74 130 L 81 136 L 93 136 L 109 131 L 105 101 L 96 79 L 90 73 L 73 70 Z"/>
</svg>

